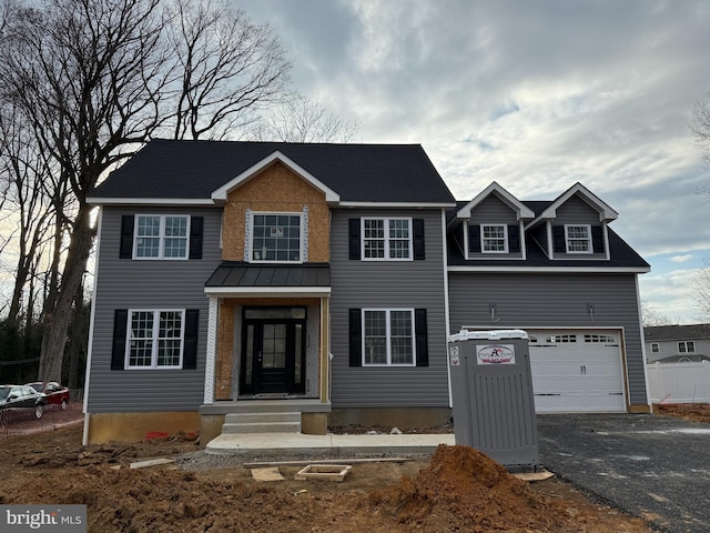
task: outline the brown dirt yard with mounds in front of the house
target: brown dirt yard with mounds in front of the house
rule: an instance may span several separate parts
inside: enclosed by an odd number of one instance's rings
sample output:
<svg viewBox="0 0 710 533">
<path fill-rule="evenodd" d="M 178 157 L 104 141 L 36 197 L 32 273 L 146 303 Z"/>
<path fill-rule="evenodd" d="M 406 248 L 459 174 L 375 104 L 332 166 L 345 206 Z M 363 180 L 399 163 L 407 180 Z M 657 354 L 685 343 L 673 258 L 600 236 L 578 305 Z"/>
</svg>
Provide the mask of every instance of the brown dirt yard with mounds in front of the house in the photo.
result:
<svg viewBox="0 0 710 533">
<path fill-rule="evenodd" d="M 62 428 L 67 420 L 48 419 L 41 433 L 21 423 L 0 432 L 0 504 L 85 504 L 92 533 L 650 531 L 558 480 L 529 484 L 464 446 L 353 463 L 343 482 L 295 481 L 296 465 L 280 465 L 284 480 L 264 482 L 244 457 L 207 455 L 185 435 L 82 446 L 81 424 Z M 175 462 L 130 467 L 149 457 Z"/>
</svg>

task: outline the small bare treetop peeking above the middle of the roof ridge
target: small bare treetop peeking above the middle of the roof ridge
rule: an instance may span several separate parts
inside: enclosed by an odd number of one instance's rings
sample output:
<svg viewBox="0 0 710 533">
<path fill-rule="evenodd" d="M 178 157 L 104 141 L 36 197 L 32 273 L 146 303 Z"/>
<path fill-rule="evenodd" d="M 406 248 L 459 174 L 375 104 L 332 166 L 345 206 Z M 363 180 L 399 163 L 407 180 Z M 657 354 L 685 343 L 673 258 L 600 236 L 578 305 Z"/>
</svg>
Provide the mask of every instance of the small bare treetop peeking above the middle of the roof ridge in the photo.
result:
<svg viewBox="0 0 710 533">
<path fill-rule="evenodd" d="M 251 139 L 281 142 L 348 142 L 359 124 L 328 112 L 321 101 L 296 94 L 268 110 L 251 131 Z"/>
</svg>

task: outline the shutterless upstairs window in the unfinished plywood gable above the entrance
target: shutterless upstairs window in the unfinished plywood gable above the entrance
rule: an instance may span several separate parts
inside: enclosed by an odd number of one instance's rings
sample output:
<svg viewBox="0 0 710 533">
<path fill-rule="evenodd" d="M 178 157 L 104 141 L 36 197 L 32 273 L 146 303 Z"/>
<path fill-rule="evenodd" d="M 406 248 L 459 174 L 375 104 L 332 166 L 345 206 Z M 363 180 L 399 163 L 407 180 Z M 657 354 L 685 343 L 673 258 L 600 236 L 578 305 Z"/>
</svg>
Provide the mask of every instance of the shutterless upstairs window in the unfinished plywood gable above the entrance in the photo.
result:
<svg viewBox="0 0 710 533">
<path fill-rule="evenodd" d="M 303 262 L 302 213 L 252 213 L 250 261 Z"/>
</svg>

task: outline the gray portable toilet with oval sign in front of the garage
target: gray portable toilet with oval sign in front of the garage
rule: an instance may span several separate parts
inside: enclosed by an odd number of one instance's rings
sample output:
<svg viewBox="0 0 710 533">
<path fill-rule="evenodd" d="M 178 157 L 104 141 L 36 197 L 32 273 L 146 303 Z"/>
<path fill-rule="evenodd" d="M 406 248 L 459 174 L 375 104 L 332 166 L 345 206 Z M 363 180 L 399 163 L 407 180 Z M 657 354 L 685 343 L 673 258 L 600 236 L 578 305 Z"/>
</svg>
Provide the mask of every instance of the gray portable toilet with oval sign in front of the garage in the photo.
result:
<svg viewBox="0 0 710 533">
<path fill-rule="evenodd" d="M 456 444 L 509 471 L 539 466 L 528 335 L 460 331 L 448 338 Z"/>
</svg>

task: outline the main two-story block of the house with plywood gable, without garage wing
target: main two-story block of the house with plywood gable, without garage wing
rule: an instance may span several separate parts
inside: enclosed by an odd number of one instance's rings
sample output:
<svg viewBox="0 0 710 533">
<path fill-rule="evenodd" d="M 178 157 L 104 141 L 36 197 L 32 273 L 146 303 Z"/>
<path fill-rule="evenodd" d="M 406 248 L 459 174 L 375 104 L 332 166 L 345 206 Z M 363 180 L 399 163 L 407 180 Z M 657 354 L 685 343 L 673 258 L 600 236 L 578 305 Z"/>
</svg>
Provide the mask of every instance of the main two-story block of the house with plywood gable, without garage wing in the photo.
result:
<svg viewBox="0 0 710 533">
<path fill-rule="evenodd" d="M 89 201 L 87 442 L 219 434 L 254 399 L 322 433 L 332 406 L 448 410 L 455 201 L 422 147 L 156 140 Z"/>
</svg>

